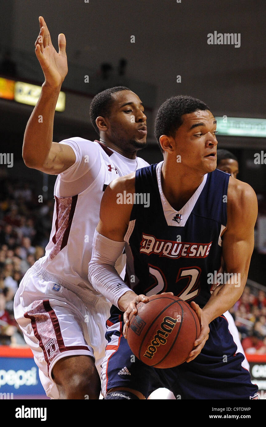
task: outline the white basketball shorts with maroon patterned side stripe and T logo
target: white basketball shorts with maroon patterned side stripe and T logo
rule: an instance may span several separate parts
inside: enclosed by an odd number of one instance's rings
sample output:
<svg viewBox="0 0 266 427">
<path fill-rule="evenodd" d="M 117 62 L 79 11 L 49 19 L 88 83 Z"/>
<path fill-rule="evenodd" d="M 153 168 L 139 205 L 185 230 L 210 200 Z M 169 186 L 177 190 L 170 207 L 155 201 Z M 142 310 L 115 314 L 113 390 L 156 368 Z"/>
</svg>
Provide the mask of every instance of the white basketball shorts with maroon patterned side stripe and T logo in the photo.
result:
<svg viewBox="0 0 266 427">
<path fill-rule="evenodd" d="M 59 359 L 83 354 L 93 357 L 100 369 L 109 307 L 88 308 L 76 293 L 44 281 L 33 267 L 26 272 L 14 298 L 15 319 L 33 352 L 48 397 L 59 398 L 51 377 Z"/>
</svg>

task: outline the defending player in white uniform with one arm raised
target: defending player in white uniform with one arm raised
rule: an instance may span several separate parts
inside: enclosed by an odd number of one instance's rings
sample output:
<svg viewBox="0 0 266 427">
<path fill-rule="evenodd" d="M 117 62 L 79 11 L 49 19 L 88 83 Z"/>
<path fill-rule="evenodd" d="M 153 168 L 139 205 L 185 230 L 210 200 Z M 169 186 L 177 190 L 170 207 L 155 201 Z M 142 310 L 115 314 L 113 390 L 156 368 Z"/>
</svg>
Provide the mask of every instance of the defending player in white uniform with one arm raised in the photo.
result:
<svg viewBox="0 0 266 427">
<path fill-rule="evenodd" d="M 98 399 L 95 359 L 105 352 L 110 304 L 89 283 L 88 264 L 105 188 L 114 178 L 148 165 L 136 157 L 146 145 L 146 116 L 132 91 L 107 89 L 90 108 L 100 141 L 74 137 L 52 142 L 56 102 L 68 71 L 66 42 L 59 34 L 57 53 L 44 19 L 39 22 L 35 53 L 45 82 L 27 123 L 23 159 L 27 167 L 58 176 L 50 241 L 44 257 L 22 279 L 14 313 L 47 396 Z"/>
</svg>

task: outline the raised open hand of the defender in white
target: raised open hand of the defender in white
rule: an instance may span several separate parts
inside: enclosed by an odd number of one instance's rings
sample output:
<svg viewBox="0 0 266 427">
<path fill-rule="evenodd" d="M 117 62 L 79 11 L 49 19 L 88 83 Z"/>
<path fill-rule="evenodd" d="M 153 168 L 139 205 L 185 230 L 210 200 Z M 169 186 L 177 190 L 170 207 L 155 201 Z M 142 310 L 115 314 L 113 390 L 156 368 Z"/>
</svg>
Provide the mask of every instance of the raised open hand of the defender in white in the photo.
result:
<svg viewBox="0 0 266 427">
<path fill-rule="evenodd" d="M 42 16 L 39 17 L 40 32 L 35 41 L 35 53 L 41 68 L 44 72 L 45 84 L 51 88 L 58 88 L 62 85 L 65 76 L 68 73 L 68 62 L 65 53 L 65 35 L 59 34 L 58 47 L 56 52 L 53 47 L 50 33 Z"/>
</svg>

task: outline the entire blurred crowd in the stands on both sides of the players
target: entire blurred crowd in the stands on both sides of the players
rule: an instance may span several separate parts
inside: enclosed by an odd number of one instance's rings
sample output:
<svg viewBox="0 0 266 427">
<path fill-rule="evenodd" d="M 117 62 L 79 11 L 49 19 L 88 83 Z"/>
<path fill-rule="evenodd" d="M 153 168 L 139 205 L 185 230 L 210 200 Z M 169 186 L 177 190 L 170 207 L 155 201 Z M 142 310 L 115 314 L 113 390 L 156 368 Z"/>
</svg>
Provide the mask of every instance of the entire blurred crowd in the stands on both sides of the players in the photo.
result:
<svg viewBox="0 0 266 427">
<path fill-rule="evenodd" d="M 34 184 L 0 181 L 0 345 L 26 345 L 14 319 L 13 299 L 49 241 L 54 202 L 39 200 Z M 246 285 L 230 312 L 245 352 L 266 354 L 266 292 Z"/>
</svg>

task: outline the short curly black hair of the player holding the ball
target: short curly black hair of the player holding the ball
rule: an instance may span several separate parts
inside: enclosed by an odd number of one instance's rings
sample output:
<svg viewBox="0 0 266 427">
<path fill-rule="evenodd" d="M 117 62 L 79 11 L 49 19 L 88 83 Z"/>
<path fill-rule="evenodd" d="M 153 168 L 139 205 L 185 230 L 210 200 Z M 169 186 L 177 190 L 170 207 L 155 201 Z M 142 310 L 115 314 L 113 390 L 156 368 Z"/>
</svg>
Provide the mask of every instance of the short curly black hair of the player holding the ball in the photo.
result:
<svg viewBox="0 0 266 427">
<path fill-rule="evenodd" d="M 160 106 L 154 124 L 155 137 L 160 146 L 160 136 L 174 137 L 175 132 L 182 125 L 183 114 L 193 113 L 197 110 L 209 110 L 205 102 L 192 98 L 189 95 L 178 95 L 171 97 Z"/>
</svg>

